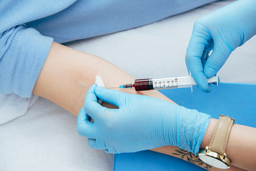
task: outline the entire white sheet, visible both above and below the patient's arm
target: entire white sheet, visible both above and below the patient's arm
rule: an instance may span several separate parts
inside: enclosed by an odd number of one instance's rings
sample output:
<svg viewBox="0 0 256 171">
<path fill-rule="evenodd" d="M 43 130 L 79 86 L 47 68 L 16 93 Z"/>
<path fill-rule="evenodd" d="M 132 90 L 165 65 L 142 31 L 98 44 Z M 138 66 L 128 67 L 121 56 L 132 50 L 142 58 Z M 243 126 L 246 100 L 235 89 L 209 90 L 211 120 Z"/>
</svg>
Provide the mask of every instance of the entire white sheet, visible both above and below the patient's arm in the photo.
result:
<svg viewBox="0 0 256 171">
<path fill-rule="evenodd" d="M 232 2 L 212 3 L 151 25 L 66 45 L 100 56 L 136 78 L 187 75 L 184 57 L 195 20 Z M 254 36 L 231 54 L 218 73 L 221 82 L 256 83 L 255 47 Z M 21 116 L 0 125 L 0 170 L 113 169 L 113 155 L 89 148 L 87 138 L 76 132 L 77 118 L 58 105 L 41 97 L 31 105 L 33 99 L 15 95 L 1 96 L 0 102 L 5 108 L 0 120 Z"/>
</svg>

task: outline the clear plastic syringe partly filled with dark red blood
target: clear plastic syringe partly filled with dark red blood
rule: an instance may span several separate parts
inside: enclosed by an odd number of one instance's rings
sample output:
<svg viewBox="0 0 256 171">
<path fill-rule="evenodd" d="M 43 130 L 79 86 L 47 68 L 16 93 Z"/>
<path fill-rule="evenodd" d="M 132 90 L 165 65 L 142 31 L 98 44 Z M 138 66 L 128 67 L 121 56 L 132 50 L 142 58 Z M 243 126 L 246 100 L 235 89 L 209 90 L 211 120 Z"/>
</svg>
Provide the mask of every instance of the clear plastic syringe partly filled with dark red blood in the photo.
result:
<svg viewBox="0 0 256 171">
<path fill-rule="evenodd" d="M 218 85 L 218 76 L 207 79 L 208 83 L 216 83 Z M 145 90 L 162 90 L 162 89 L 178 89 L 178 88 L 191 88 L 197 85 L 193 77 L 188 76 L 176 76 L 169 78 L 146 78 L 146 79 L 135 79 L 134 84 L 124 84 L 116 88 L 134 88 L 135 91 Z"/>
</svg>

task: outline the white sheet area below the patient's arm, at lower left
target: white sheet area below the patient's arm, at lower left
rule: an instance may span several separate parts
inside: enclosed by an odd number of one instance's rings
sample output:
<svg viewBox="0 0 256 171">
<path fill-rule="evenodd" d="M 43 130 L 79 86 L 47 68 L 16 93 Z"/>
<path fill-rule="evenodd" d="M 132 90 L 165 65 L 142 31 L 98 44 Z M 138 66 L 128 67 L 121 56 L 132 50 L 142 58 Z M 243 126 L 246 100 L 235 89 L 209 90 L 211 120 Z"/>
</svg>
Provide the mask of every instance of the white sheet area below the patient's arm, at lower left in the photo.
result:
<svg viewBox="0 0 256 171">
<path fill-rule="evenodd" d="M 0 170 L 112 170 L 113 155 L 89 148 L 76 122 L 39 97 L 26 115 L 0 125 Z"/>
</svg>

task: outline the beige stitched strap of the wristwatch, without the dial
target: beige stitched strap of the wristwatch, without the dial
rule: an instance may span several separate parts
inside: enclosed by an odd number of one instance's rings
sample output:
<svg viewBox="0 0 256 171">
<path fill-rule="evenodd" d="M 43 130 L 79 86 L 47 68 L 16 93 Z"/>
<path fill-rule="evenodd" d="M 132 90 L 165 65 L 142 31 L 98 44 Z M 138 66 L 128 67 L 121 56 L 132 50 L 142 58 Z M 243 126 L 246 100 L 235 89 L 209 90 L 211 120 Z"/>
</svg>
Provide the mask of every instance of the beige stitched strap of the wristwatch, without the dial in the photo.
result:
<svg viewBox="0 0 256 171">
<path fill-rule="evenodd" d="M 219 153 L 221 155 L 225 153 L 228 137 L 233 123 L 233 118 L 221 114 L 208 146 L 210 151 Z"/>
</svg>

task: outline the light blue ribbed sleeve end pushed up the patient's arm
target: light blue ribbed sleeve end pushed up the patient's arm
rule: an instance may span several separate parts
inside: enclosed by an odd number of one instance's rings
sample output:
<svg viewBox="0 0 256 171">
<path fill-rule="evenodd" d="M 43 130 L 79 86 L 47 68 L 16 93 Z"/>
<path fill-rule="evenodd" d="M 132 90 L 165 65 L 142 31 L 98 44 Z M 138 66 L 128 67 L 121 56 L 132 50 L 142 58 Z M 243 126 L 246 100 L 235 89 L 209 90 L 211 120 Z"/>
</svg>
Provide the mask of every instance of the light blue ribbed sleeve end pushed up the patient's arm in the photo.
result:
<svg viewBox="0 0 256 171">
<path fill-rule="evenodd" d="M 0 34 L 0 94 L 31 96 L 52 41 L 25 25 Z"/>
</svg>

